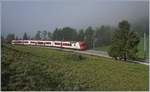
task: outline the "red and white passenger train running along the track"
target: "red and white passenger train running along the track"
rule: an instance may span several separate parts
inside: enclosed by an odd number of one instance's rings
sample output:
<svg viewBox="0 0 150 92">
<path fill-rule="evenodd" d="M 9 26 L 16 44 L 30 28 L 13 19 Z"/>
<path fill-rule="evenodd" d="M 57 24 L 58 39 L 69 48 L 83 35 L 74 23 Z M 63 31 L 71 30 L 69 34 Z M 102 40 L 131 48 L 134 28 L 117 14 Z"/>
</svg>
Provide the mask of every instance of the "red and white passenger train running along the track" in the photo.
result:
<svg viewBox="0 0 150 92">
<path fill-rule="evenodd" d="M 32 45 L 32 46 L 51 46 L 59 48 L 70 48 L 77 50 L 87 49 L 85 42 L 76 41 L 45 41 L 45 40 L 12 40 L 12 44 Z"/>
</svg>

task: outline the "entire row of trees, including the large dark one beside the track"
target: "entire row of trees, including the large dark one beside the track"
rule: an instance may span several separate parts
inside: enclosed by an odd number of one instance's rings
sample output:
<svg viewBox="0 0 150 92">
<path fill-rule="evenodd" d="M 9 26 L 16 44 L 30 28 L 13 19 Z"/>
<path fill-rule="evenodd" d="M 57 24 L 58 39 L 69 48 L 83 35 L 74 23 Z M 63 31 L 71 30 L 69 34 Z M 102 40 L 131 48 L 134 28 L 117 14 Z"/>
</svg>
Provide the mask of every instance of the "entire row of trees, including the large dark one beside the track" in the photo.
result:
<svg viewBox="0 0 150 92">
<path fill-rule="evenodd" d="M 123 20 L 118 23 L 118 27 L 110 27 L 102 25 L 97 28 L 87 27 L 86 29 L 76 30 L 71 27 L 56 28 L 53 32 L 37 31 L 34 37 L 29 37 L 25 32 L 23 40 L 59 40 L 59 41 L 84 41 L 88 49 L 109 45 L 108 54 L 119 60 L 136 59 L 138 52 L 137 46 L 140 42 L 141 34 L 135 30 L 131 30 L 128 21 Z M 11 42 L 13 39 L 21 39 L 15 37 L 15 34 L 8 34 L 6 39 L 2 41 Z"/>
</svg>

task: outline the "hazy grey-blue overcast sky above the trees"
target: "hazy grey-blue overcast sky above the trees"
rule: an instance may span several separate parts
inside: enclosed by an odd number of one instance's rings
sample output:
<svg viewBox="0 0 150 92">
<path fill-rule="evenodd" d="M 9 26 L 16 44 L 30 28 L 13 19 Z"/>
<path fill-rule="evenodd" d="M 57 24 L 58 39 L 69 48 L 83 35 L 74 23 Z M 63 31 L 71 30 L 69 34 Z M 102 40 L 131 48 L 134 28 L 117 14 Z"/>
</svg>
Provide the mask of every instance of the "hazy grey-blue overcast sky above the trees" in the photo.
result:
<svg viewBox="0 0 150 92">
<path fill-rule="evenodd" d="M 37 30 L 53 32 L 56 27 L 117 25 L 126 19 L 129 22 L 149 16 L 146 1 L 105 0 L 49 0 L 49 1 L 3 1 L 2 35 L 24 32 L 33 35 Z"/>
</svg>

